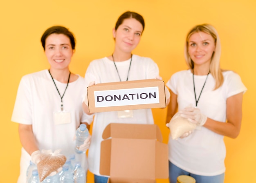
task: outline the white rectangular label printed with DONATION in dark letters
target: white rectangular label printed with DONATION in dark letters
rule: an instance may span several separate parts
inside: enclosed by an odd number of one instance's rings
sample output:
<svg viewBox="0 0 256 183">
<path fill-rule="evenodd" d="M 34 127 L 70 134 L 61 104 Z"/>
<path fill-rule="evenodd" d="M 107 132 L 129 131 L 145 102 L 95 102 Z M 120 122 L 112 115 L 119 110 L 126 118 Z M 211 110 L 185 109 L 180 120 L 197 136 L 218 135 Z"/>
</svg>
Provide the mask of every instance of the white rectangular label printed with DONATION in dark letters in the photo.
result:
<svg viewBox="0 0 256 183">
<path fill-rule="evenodd" d="M 94 91 L 95 107 L 158 104 L 158 87 Z"/>
</svg>

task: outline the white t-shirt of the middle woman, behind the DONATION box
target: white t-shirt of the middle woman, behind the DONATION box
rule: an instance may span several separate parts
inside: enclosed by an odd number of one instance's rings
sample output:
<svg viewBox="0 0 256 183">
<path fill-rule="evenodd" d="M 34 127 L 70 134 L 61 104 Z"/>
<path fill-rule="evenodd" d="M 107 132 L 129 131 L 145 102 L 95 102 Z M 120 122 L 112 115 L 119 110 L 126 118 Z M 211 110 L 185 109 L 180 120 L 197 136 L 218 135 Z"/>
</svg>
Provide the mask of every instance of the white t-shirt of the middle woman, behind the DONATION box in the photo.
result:
<svg viewBox="0 0 256 183">
<path fill-rule="evenodd" d="M 159 75 L 157 64 L 150 58 L 132 55 L 130 59 L 124 62 L 115 62 L 121 81 L 139 80 L 139 79 L 155 79 Z M 130 71 L 128 74 L 130 66 Z M 85 73 L 85 81 L 88 84 L 92 81 L 98 83 L 119 82 L 117 70 L 114 62 L 104 57 L 94 60 L 88 66 Z M 118 118 L 117 111 L 98 112 L 94 114 L 94 123 L 92 128 L 92 141 L 88 153 L 89 170 L 93 174 L 100 175 L 100 153 L 103 130 L 109 123 L 140 123 L 153 124 L 153 115 L 151 109 L 133 110 L 133 117 Z M 102 175 L 101 175 L 102 176 Z"/>
</svg>

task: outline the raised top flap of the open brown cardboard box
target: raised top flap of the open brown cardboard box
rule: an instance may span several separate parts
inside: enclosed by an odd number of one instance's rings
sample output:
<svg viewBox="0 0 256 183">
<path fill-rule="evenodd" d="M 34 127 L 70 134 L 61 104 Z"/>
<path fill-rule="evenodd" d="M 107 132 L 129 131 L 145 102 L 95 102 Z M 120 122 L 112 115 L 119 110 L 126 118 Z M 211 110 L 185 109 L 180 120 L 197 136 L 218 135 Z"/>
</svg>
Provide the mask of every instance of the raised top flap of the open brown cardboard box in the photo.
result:
<svg viewBox="0 0 256 183">
<path fill-rule="evenodd" d="M 159 127 L 156 124 L 127 124 L 110 123 L 103 131 L 102 138 L 124 138 L 124 139 L 156 139 L 163 141 Z"/>
</svg>

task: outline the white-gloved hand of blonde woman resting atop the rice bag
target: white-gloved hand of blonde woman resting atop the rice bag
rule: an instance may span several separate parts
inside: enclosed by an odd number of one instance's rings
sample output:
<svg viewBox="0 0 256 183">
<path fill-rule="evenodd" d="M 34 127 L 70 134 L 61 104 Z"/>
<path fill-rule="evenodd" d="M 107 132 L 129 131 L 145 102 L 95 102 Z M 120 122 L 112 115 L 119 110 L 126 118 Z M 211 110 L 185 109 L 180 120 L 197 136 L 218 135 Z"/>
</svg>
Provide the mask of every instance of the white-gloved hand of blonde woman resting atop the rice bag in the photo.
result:
<svg viewBox="0 0 256 183">
<path fill-rule="evenodd" d="M 179 112 L 181 117 L 187 118 L 191 123 L 198 126 L 203 126 L 207 121 L 207 116 L 202 114 L 199 108 L 188 106 Z"/>
</svg>

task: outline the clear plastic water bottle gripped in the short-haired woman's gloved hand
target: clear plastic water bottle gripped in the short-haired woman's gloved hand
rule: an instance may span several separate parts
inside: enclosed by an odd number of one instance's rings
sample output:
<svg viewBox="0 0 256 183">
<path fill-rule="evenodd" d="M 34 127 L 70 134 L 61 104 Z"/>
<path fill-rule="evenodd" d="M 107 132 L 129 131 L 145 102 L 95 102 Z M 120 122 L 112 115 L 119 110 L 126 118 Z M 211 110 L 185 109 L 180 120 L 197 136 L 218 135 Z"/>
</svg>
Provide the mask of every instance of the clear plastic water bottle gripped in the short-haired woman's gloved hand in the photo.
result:
<svg viewBox="0 0 256 183">
<path fill-rule="evenodd" d="M 89 136 L 89 131 L 85 124 L 81 124 L 76 130 L 76 146 L 75 152 L 78 154 L 85 153 L 85 151 L 80 151 L 78 148 L 83 144 L 85 139 Z"/>
</svg>

